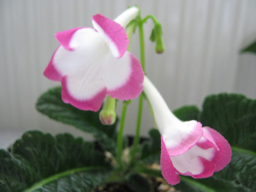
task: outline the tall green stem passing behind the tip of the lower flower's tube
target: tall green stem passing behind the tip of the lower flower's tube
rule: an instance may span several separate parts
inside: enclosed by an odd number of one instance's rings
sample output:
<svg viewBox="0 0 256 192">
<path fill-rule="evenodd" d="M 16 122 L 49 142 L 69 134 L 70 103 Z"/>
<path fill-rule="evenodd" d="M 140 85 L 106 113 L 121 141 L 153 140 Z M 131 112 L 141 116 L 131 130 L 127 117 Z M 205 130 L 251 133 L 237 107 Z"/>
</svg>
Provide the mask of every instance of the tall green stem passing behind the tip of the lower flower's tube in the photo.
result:
<svg viewBox="0 0 256 192">
<path fill-rule="evenodd" d="M 140 63 L 142 65 L 142 69 L 145 72 L 145 46 L 144 46 L 144 32 L 143 32 L 143 22 L 139 16 L 139 38 L 140 38 Z M 140 94 L 139 97 L 139 109 L 138 109 L 138 116 L 137 116 L 137 126 L 135 137 L 133 141 L 133 148 L 131 150 L 131 165 L 135 162 L 136 153 L 138 150 L 138 145 L 140 141 L 140 126 L 142 121 L 142 112 L 143 112 L 143 95 Z"/>
</svg>

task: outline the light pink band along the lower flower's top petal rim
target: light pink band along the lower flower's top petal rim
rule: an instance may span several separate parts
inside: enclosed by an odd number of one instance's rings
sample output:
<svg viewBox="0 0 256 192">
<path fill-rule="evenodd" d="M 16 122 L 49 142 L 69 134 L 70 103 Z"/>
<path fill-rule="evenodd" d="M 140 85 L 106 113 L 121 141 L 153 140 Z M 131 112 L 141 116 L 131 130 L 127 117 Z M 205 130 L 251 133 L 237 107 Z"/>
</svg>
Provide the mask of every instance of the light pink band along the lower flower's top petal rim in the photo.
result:
<svg viewBox="0 0 256 192">
<path fill-rule="evenodd" d="M 185 153 L 193 147 L 203 135 L 203 128 L 200 122 L 196 123 L 194 130 L 185 138 L 182 138 L 181 143 L 173 148 L 167 148 L 170 157 Z"/>
</svg>

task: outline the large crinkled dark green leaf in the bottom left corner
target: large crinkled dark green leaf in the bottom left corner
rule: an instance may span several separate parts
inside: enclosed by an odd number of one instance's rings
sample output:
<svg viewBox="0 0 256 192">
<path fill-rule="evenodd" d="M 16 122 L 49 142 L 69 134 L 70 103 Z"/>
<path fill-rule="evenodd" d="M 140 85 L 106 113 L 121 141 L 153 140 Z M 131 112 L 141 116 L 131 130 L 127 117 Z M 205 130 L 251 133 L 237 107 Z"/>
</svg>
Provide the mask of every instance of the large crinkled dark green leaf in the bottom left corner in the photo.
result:
<svg viewBox="0 0 256 192">
<path fill-rule="evenodd" d="M 29 131 L 10 152 L 0 150 L 0 191 L 90 191 L 111 170 L 91 142 Z"/>
</svg>

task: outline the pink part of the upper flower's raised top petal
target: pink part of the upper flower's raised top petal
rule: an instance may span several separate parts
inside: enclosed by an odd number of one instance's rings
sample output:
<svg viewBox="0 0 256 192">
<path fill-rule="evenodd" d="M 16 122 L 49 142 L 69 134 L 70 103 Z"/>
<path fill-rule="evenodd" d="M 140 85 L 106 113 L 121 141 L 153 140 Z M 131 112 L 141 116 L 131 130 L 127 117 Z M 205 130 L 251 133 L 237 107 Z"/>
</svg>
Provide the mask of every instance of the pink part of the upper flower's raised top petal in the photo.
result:
<svg viewBox="0 0 256 192">
<path fill-rule="evenodd" d="M 110 42 L 116 46 L 118 50 L 117 58 L 122 57 L 129 45 L 129 39 L 127 38 L 124 27 L 101 14 L 94 15 L 93 21 L 101 27 L 103 33 L 109 38 Z M 100 33 L 99 29 L 96 30 Z"/>
</svg>

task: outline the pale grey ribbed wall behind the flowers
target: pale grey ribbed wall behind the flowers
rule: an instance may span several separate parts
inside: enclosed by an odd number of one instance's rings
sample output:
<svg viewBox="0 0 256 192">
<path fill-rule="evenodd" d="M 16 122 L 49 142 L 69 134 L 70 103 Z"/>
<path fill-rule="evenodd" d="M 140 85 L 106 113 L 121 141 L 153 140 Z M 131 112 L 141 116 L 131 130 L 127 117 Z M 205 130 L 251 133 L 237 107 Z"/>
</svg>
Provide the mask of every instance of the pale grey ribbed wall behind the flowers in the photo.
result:
<svg viewBox="0 0 256 192">
<path fill-rule="evenodd" d="M 91 139 L 35 109 L 39 95 L 60 85 L 43 76 L 59 45 L 54 34 L 91 27 L 97 13 L 114 19 L 135 4 L 142 17 L 152 14 L 162 23 L 162 54 L 154 53 L 149 40 L 153 23 L 144 25 L 146 72 L 170 109 L 194 104 L 201 108 L 208 94 L 221 92 L 256 98 L 256 56 L 239 53 L 256 39 L 255 0 L 0 0 L 1 148 L 31 129 Z M 139 59 L 138 31 L 131 47 Z M 137 102 L 128 108 L 126 134 L 135 132 Z M 152 127 L 145 102 L 142 134 Z"/>
</svg>

